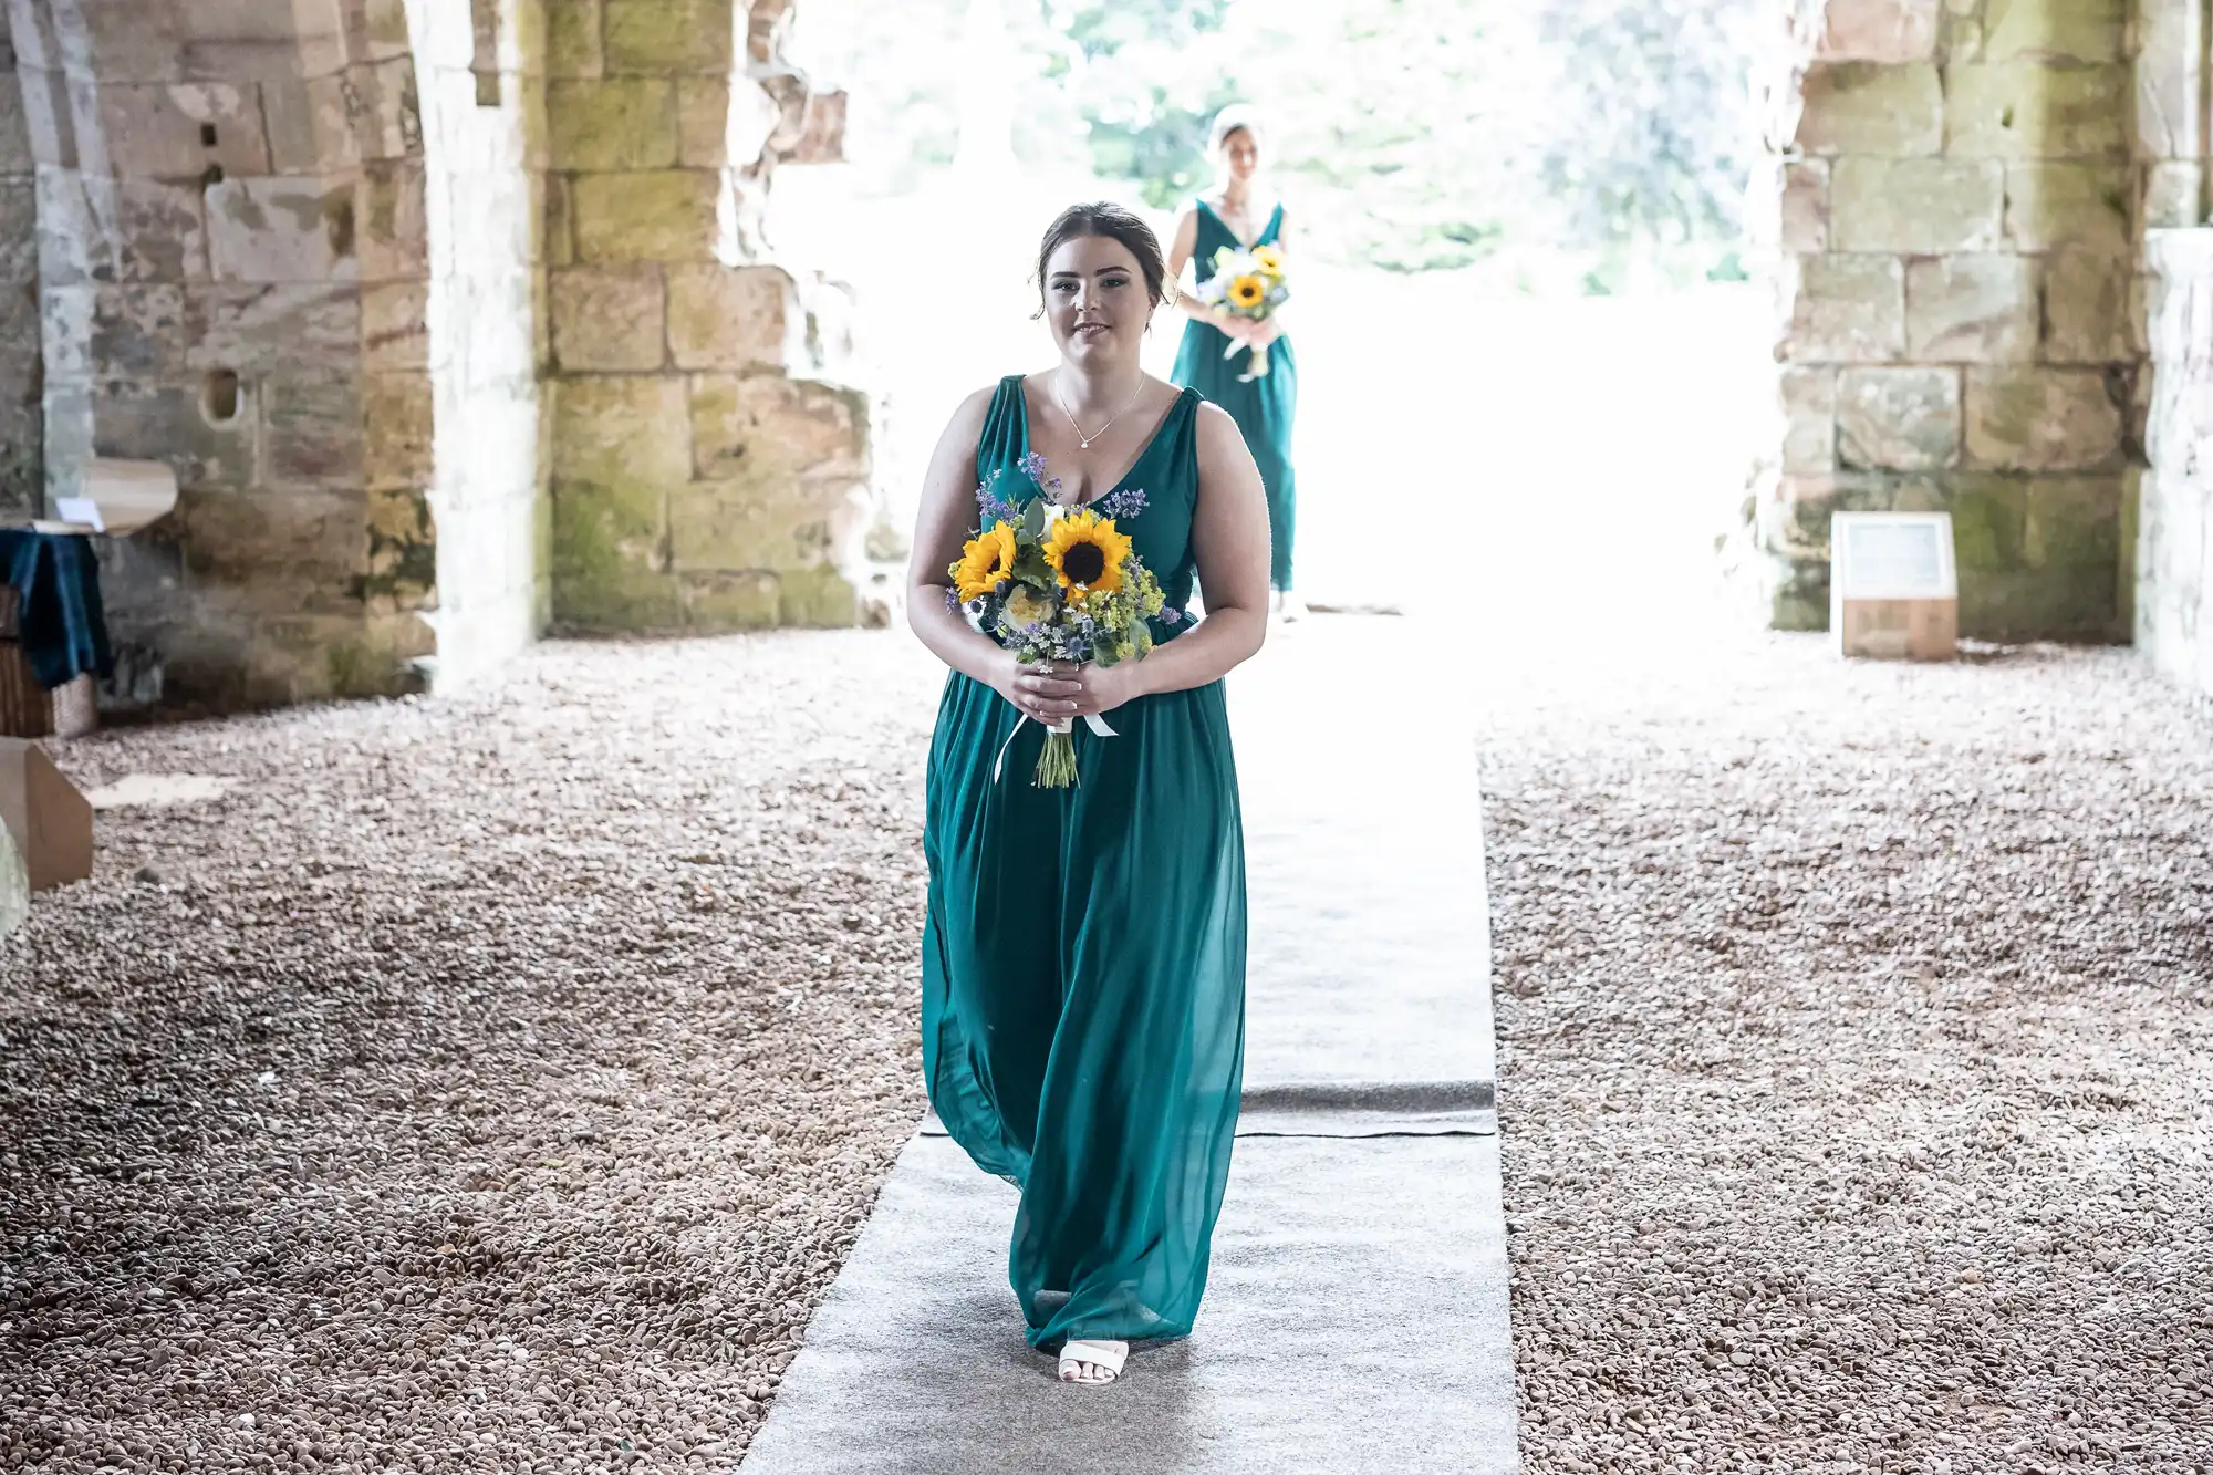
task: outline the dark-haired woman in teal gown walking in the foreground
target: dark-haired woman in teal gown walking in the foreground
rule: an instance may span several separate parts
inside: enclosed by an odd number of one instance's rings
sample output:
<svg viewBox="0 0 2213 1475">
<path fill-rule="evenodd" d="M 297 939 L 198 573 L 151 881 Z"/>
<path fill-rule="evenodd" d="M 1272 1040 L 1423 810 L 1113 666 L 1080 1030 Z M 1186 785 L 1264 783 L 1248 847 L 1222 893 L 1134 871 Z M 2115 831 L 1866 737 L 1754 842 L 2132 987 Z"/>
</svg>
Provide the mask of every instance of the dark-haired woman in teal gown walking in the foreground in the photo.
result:
<svg viewBox="0 0 2213 1475">
<path fill-rule="evenodd" d="M 1268 512 L 1228 414 L 1146 377 L 1166 292 L 1129 210 L 1073 206 L 1038 252 L 1060 361 L 978 390 L 929 463 L 907 618 L 952 675 L 929 744 L 923 1072 L 945 1130 L 1020 1192 L 1029 1342 L 1102 1384 L 1191 1331 L 1244 1072 L 1246 893 L 1222 675 L 1266 636 Z M 991 507 L 1104 503 L 1160 578 L 1151 656 L 1018 664 L 947 567 Z M 983 503 L 983 512 L 978 512 Z M 1206 580 L 1204 620 L 1184 616 Z M 1045 724 L 1080 782 L 1038 788 Z"/>
</svg>

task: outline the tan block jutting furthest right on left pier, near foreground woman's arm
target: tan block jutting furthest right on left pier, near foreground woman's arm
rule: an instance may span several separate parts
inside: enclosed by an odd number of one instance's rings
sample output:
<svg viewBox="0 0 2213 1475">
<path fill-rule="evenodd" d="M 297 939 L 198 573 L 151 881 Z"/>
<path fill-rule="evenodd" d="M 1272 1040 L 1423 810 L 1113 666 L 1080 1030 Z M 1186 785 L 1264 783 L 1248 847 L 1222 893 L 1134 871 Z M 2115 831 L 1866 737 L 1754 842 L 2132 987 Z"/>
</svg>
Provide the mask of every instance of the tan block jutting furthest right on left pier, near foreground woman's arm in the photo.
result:
<svg viewBox="0 0 2213 1475">
<path fill-rule="evenodd" d="M 867 396 L 856 390 L 777 374 L 695 374 L 690 416 L 704 481 L 867 478 Z"/>
</svg>

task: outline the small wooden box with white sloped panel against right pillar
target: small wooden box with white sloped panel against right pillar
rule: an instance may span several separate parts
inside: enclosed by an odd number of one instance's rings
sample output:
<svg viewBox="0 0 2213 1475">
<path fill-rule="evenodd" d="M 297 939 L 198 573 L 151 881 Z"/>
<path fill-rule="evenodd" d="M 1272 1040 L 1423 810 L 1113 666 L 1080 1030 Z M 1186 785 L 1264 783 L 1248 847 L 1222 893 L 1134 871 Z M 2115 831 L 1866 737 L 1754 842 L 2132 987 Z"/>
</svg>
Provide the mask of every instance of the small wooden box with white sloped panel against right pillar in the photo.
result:
<svg viewBox="0 0 2213 1475">
<path fill-rule="evenodd" d="M 1828 532 L 1828 629 L 1839 656 L 1959 656 L 1947 512 L 1839 512 Z"/>
</svg>

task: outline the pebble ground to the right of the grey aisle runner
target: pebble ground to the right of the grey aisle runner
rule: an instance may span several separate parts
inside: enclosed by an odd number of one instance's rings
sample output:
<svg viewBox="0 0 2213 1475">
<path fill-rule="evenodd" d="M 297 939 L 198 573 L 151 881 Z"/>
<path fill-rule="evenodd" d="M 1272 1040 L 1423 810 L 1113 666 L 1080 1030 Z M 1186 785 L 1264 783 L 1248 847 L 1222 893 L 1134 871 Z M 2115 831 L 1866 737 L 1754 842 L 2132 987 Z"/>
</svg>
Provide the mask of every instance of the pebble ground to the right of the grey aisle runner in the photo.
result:
<svg viewBox="0 0 2213 1475">
<path fill-rule="evenodd" d="M 1808 638 L 1489 691 L 1529 1475 L 2213 1471 L 2213 713 Z"/>
</svg>

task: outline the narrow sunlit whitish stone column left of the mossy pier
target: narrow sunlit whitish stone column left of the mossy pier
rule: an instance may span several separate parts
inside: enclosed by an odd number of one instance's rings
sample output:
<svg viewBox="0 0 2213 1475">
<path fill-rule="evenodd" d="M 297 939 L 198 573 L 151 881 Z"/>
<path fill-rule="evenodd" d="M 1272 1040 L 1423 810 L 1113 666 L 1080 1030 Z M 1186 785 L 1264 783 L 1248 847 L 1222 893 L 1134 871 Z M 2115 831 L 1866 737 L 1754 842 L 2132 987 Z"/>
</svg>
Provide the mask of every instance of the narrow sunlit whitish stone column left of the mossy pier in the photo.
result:
<svg viewBox="0 0 2213 1475">
<path fill-rule="evenodd" d="M 427 507 L 385 505 L 394 547 L 436 527 L 434 680 L 456 691 L 505 664 L 549 616 L 547 13 L 542 0 L 407 0 L 407 16 L 427 281 L 365 288 L 367 368 L 392 385 L 392 403 L 436 427 Z"/>
</svg>

